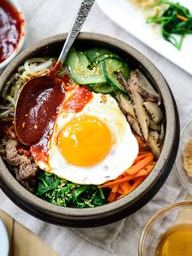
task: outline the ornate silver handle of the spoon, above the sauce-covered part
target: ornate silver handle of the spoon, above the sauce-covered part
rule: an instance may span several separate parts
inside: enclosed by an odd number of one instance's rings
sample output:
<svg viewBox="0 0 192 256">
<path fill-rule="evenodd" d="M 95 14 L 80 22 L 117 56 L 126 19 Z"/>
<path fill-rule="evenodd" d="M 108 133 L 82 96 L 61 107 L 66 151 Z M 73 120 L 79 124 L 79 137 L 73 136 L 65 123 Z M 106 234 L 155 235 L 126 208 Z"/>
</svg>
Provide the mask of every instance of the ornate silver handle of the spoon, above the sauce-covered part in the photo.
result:
<svg viewBox="0 0 192 256">
<path fill-rule="evenodd" d="M 68 38 L 66 39 L 63 49 L 59 55 L 59 63 L 64 62 L 66 59 L 68 52 L 70 51 L 73 42 L 75 41 L 77 35 L 80 33 L 80 30 L 86 20 L 86 17 L 89 15 L 89 11 L 91 7 L 93 6 L 95 0 L 83 0 L 81 2 L 81 7 L 79 8 L 79 11 L 76 15 L 75 20 L 72 23 L 72 27 L 69 30 Z"/>
</svg>

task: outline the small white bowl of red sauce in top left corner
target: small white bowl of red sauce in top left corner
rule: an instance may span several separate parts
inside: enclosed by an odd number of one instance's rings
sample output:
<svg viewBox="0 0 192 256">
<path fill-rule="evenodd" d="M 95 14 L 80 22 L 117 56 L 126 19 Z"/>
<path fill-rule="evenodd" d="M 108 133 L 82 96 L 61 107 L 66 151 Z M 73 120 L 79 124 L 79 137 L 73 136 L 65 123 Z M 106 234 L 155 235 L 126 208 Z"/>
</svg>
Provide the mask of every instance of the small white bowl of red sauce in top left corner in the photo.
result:
<svg viewBox="0 0 192 256">
<path fill-rule="evenodd" d="M 16 0 L 0 2 L 0 71 L 24 45 L 24 17 Z"/>
</svg>

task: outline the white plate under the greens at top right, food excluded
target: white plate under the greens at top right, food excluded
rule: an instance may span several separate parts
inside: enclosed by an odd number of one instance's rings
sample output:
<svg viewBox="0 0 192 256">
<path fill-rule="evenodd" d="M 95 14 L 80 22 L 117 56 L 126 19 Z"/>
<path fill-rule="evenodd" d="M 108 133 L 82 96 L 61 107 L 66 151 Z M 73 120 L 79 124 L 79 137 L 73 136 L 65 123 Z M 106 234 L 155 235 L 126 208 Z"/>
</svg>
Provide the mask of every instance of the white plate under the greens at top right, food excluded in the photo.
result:
<svg viewBox="0 0 192 256">
<path fill-rule="evenodd" d="M 128 0 L 97 0 L 98 6 L 111 20 L 131 33 L 135 38 L 150 46 L 186 72 L 192 74 L 192 35 L 187 35 L 182 43 L 181 51 L 155 32 L 152 24 L 146 24 L 146 18 L 139 7 Z M 172 1 L 173 2 L 173 1 Z M 191 0 L 178 0 L 192 11 Z"/>
</svg>

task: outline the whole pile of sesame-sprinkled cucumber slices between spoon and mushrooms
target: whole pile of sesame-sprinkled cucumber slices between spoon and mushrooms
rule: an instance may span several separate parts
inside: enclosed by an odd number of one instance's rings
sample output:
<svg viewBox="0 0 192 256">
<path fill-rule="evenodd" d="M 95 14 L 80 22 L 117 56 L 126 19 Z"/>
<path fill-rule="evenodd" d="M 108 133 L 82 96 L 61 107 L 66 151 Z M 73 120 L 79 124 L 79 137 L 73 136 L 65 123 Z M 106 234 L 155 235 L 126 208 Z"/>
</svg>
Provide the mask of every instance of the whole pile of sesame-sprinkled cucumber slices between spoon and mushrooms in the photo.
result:
<svg viewBox="0 0 192 256">
<path fill-rule="evenodd" d="M 98 60 L 91 63 L 90 61 Z M 88 49 L 85 53 L 72 48 L 66 60 L 72 79 L 80 85 L 90 85 L 96 92 L 111 93 L 123 86 L 117 80 L 117 73 L 129 77 L 129 67 L 118 55 L 102 48 Z"/>
</svg>

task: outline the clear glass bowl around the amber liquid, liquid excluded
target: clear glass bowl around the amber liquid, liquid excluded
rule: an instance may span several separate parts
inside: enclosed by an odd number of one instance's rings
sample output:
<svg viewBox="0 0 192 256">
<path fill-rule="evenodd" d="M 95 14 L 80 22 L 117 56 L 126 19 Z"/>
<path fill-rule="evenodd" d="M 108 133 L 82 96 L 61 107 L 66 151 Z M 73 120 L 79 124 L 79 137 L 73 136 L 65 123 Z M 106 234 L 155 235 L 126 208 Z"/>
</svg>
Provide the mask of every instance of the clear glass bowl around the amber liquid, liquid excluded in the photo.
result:
<svg viewBox="0 0 192 256">
<path fill-rule="evenodd" d="M 178 224 L 192 225 L 192 201 L 181 201 L 159 210 L 143 228 L 138 256 L 155 256 L 161 237 L 170 227 Z M 173 256 L 173 255 L 172 255 Z"/>
</svg>

